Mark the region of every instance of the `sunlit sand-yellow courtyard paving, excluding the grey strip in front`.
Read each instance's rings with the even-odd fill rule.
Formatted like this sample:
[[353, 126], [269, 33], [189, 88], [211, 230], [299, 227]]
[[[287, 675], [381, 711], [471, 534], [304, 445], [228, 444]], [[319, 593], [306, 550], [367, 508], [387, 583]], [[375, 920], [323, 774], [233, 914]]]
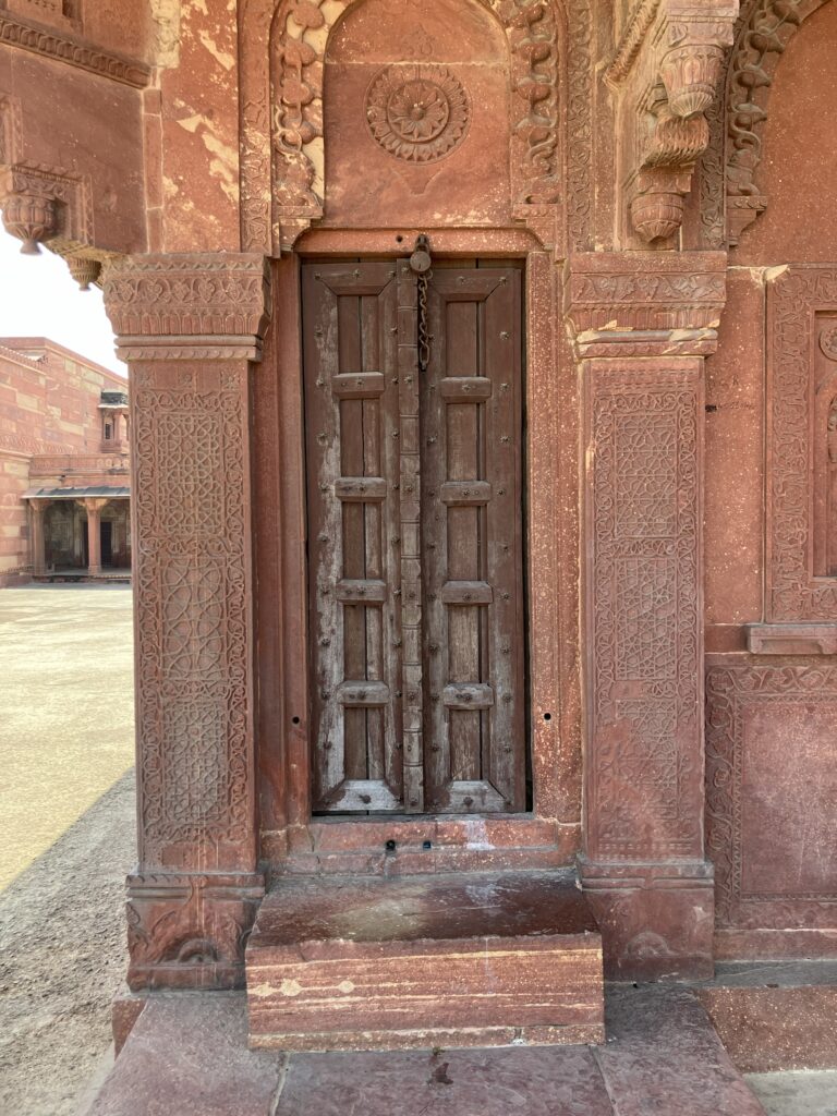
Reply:
[[127, 586], [0, 590], [0, 892], [134, 763]]

